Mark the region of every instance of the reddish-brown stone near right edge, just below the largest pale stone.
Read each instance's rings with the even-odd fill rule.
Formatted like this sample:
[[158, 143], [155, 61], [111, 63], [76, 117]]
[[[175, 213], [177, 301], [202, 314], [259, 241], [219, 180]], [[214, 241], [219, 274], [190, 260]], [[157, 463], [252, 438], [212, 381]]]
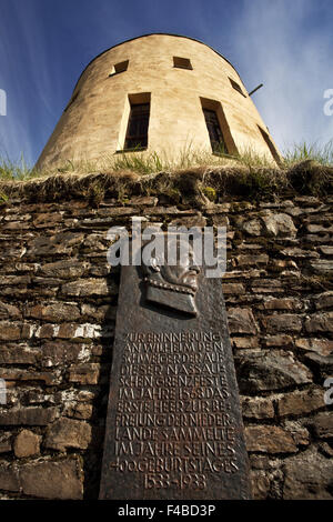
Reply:
[[320, 408], [324, 408], [324, 393], [322, 390], [304, 390], [285, 393], [278, 399], [278, 409], [281, 416], [304, 415]]

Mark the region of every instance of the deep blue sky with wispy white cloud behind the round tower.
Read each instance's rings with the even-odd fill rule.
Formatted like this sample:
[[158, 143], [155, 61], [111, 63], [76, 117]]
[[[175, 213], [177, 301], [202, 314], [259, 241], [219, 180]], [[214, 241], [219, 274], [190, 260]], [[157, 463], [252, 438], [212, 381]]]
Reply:
[[150, 32], [199, 39], [228, 58], [283, 150], [333, 138], [332, 0], [0, 0], [0, 155], [32, 164], [88, 62]]

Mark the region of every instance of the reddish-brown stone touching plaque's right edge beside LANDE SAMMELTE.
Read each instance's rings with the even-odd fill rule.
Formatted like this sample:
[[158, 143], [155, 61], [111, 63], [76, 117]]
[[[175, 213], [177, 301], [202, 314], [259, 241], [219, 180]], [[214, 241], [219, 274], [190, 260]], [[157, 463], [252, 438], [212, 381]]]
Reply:
[[245, 428], [248, 451], [262, 453], [294, 453], [297, 446], [290, 433], [280, 426], [249, 425]]

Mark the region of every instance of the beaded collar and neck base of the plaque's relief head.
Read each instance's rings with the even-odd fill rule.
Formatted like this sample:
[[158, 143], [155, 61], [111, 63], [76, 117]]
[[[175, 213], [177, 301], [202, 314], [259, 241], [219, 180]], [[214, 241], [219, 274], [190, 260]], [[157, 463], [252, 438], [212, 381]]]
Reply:
[[147, 300], [162, 304], [172, 310], [198, 315], [194, 295], [195, 290], [172, 283], [160, 282], [154, 279], [144, 279], [147, 288]]

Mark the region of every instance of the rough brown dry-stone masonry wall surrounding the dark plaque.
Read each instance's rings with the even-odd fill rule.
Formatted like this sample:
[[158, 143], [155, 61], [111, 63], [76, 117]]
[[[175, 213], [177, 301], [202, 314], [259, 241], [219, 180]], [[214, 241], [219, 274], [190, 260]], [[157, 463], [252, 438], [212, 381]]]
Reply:
[[332, 202], [3, 204], [0, 499], [98, 498], [120, 273], [107, 230], [132, 215], [228, 225], [223, 288], [253, 495], [332, 499]]

